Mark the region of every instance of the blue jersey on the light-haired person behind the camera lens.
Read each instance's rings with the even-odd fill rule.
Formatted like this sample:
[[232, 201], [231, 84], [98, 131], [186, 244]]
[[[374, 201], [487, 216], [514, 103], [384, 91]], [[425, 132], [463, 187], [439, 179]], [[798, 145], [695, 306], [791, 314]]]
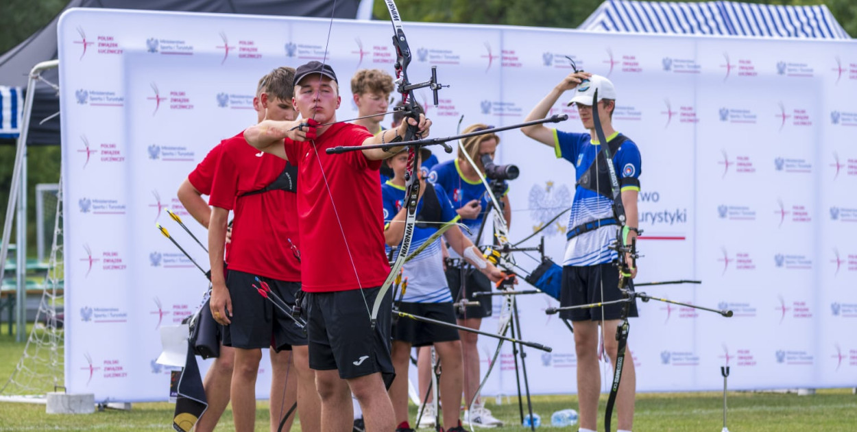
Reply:
[[[470, 234], [464, 231], [464, 235], [470, 238], [473, 244], [479, 244], [476, 241], [476, 235], [479, 233], [479, 225], [482, 225], [482, 218], [485, 217], [485, 212], [488, 211], [488, 202], [491, 201], [482, 182], [479, 180], [471, 182], [464, 178], [461, 175], [461, 167], [458, 166], [458, 158], [434, 165], [431, 171], [428, 172], [428, 181], [435, 186], [440, 186], [444, 190], [450, 191], [449, 201], [452, 201], [452, 207], [456, 210], [464, 207], [472, 200], [479, 201], [479, 204], [482, 205], [482, 212], [479, 213], [479, 216], [476, 219], [461, 219], [461, 223], [467, 225], [470, 229]], [[506, 196], [509, 193], [508, 183], [502, 182], [502, 185], [504, 190], [503, 196]], [[502, 196], [497, 197], [498, 200], [500, 198]], [[488, 225], [487, 229], [490, 229], [489, 227], [490, 225]], [[450, 256], [458, 256], [452, 250], [449, 251], [449, 254]]]

